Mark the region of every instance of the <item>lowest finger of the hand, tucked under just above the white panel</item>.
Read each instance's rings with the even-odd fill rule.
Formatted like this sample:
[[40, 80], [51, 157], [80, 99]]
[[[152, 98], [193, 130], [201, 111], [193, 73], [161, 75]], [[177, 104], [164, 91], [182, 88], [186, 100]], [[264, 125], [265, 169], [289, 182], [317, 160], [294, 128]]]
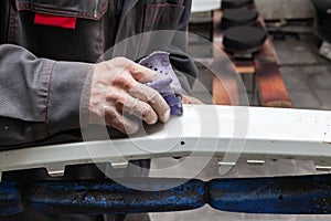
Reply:
[[114, 127], [124, 134], [135, 134], [139, 129], [138, 123], [128, 119], [113, 106], [105, 107], [105, 120], [108, 126]]

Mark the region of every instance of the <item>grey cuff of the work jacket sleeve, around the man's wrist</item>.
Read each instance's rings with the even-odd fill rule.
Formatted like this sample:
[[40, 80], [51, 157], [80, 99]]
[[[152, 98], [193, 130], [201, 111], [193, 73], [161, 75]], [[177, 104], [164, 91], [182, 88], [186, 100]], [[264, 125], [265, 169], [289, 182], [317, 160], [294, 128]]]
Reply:
[[[46, 128], [52, 136], [87, 124], [93, 64], [54, 62], [47, 82]], [[79, 119], [82, 115], [82, 119]]]

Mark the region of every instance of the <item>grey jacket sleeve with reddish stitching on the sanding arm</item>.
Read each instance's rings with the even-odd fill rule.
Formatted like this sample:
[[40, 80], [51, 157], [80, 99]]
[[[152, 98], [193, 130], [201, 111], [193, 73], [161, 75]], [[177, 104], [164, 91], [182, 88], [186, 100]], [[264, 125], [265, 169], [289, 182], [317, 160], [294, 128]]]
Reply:
[[[93, 65], [39, 59], [0, 45], [0, 148], [79, 128], [79, 103]], [[86, 107], [83, 107], [86, 108]]]

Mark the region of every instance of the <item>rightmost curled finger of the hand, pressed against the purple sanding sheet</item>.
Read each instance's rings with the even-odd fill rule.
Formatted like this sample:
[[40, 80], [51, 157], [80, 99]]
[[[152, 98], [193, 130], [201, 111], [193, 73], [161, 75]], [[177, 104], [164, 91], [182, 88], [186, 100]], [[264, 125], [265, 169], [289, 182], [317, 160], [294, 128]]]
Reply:
[[132, 97], [137, 97], [145, 103], [148, 103], [163, 123], [170, 118], [170, 107], [163, 97], [154, 90], [143, 85], [137, 84], [134, 88], [129, 90]]

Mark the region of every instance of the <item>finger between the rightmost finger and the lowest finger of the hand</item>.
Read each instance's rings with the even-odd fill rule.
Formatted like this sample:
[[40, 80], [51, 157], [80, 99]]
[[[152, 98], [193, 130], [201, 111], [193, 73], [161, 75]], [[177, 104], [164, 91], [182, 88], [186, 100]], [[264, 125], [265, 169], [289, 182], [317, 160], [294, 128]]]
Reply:
[[158, 122], [158, 115], [149, 104], [134, 98], [130, 95], [126, 98], [124, 110], [139, 117], [149, 125]]

